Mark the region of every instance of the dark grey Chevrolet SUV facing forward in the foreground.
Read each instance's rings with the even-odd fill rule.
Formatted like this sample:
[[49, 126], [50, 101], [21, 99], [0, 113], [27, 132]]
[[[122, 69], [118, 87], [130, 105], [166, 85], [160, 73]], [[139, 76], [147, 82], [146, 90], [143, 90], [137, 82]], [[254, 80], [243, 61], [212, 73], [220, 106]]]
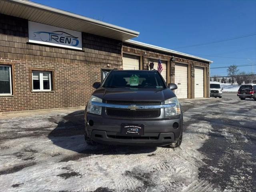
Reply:
[[182, 110], [156, 70], [112, 70], [96, 88], [85, 111], [88, 144], [178, 147]]

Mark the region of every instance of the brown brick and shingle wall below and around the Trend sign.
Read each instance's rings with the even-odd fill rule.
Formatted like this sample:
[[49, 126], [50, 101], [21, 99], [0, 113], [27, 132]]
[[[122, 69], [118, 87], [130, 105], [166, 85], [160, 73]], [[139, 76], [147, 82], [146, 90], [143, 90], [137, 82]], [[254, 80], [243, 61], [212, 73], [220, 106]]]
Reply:
[[[83, 50], [28, 43], [28, 21], [0, 14], [0, 64], [14, 64], [15, 94], [0, 112], [85, 106], [101, 68], [122, 68], [122, 42], [82, 34]], [[31, 92], [29, 68], [54, 70], [54, 92]]]

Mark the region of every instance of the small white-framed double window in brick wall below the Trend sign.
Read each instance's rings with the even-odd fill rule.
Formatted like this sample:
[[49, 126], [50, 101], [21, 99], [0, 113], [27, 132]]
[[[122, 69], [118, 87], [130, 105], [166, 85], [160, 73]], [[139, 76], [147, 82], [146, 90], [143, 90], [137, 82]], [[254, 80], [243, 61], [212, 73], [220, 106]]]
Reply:
[[32, 91], [51, 91], [52, 72], [32, 70]]

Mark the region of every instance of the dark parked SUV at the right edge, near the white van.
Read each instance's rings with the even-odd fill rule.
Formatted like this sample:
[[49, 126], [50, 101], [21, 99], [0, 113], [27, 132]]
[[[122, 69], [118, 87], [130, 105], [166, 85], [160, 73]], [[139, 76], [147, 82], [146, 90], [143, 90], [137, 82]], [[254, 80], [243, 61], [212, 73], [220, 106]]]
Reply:
[[241, 85], [238, 89], [237, 96], [241, 100], [245, 100], [246, 98], [254, 98], [254, 100], [256, 100], [256, 85]]

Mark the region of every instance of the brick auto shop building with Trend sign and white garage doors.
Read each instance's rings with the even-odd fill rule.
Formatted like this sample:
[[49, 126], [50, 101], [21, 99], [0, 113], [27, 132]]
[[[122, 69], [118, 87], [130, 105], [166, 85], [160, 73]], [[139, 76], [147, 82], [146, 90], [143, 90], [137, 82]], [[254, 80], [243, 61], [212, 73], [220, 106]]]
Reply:
[[210, 60], [130, 40], [138, 35], [33, 2], [0, 0], [0, 112], [85, 106], [92, 84], [110, 69], [148, 70], [159, 56], [178, 98], [209, 97]]

